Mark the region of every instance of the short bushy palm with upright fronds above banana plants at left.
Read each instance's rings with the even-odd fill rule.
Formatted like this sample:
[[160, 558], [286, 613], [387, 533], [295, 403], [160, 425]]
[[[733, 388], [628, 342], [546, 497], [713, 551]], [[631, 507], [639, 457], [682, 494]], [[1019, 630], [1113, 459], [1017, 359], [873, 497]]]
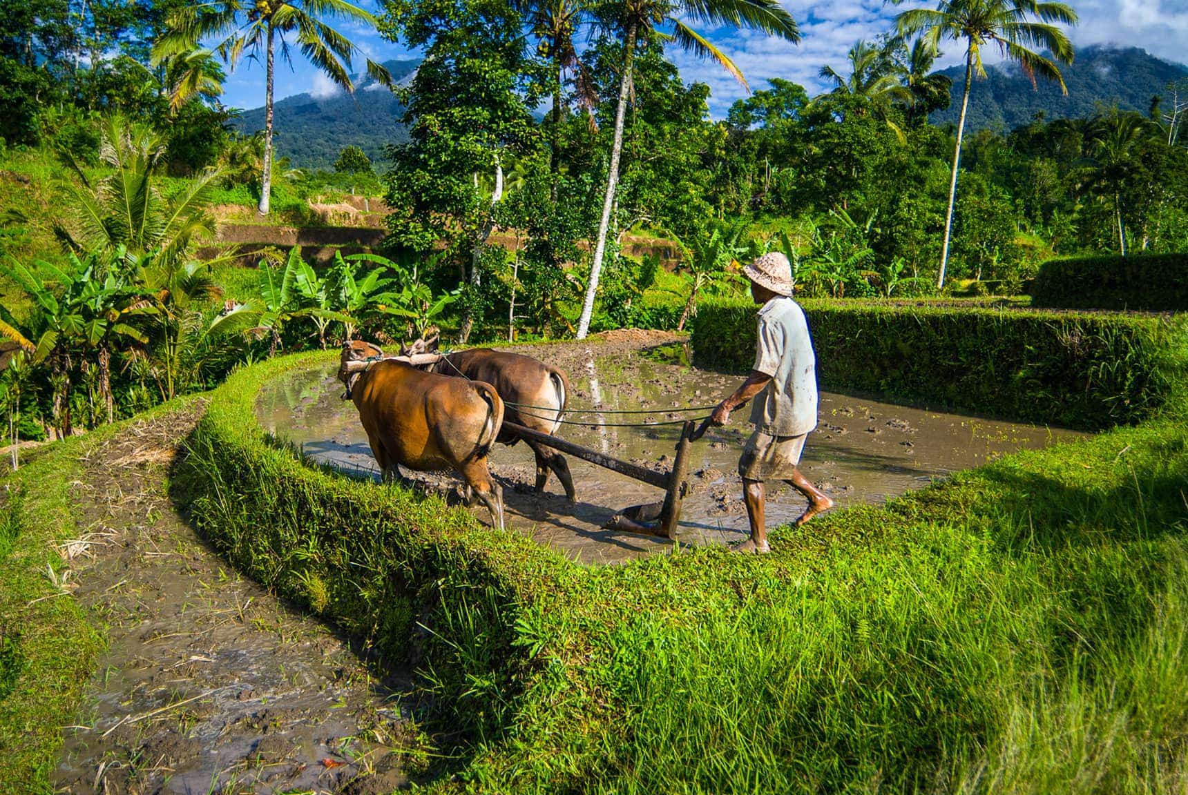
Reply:
[[112, 172], [91, 182], [69, 161], [78, 184], [67, 185], [74, 218], [57, 227], [67, 244], [97, 254], [108, 267], [122, 267], [120, 259], [131, 265], [150, 252], [158, 263], [172, 265], [197, 240], [213, 237], [215, 222], [207, 209], [221, 172], [208, 168], [166, 198], [156, 178], [164, 157], [164, 139], [147, 125], [105, 119], [100, 159]]

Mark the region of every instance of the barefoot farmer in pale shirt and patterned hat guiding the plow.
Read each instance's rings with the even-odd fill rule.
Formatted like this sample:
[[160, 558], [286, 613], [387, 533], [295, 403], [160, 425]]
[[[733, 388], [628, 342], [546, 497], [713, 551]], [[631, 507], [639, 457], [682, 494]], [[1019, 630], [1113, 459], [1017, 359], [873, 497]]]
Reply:
[[764, 483], [784, 481], [809, 501], [796, 520], [801, 526], [833, 508], [833, 501], [809, 483], [797, 464], [804, 438], [817, 424], [816, 357], [804, 311], [792, 300], [792, 268], [778, 252], [764, 254], [742, 272], [751, 280], [751, 297], [759, 310], [759, 336], [751, 375], [710, 415], [725, 425], [731, 412], [754, 398], [751, 421], [754, 433], [739, 459], [742, 497], [751, 520], [751, 538], [737, 552], [765, 553]]

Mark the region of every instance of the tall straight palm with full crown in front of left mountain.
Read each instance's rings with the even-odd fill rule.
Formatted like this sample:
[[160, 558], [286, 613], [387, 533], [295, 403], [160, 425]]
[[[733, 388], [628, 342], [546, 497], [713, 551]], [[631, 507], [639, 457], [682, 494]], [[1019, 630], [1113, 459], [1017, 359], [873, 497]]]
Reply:
[[[292, 62], [286, 40], [291, 36], [310, 63], [347, 91], [354, 91], [349, 69], [359, 47], [322, 21], [321, 17], [375, 25], [371, 13], [347, 0], [216, 0], [175, 11], [170, 14], [168, 32], [153, 46], [153, 62], [162, 63], [191, 52], [204, 39], [217, 38], [221, 40], [211, 51], [233, 70], [245, 52], [249, 53], [249, 58], [259, 59], [260, 49], [264, 49], [264, 173], [257, 209], [261, 216], [268, 214], [272, 187], [272, 88], [277, 39], [280, 57], [286, 63]], [[371, 58], [366, 62], [372, 80], [384, 85], [392, 84], [392, 76], [384, 66]], [[192, 81], [181, 83], [183, 93], [191, 87]]]

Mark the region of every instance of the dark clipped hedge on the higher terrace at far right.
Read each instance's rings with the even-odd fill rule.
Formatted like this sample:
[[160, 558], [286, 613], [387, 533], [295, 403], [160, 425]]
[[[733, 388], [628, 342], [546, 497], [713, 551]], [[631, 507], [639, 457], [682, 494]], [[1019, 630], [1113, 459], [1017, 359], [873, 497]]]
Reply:
[[1031, 286], [1035, 306], [1188, 311], [1188, 253], [1049, 260]]

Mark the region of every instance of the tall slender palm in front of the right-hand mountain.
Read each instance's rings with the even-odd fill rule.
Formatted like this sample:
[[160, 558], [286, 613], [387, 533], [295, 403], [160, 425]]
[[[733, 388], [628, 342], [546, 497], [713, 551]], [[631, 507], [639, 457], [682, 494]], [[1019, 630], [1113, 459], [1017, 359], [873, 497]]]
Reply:
[[[902, 1], [902, 0], [899, 0]], [[1040, 21], [1032, 21], [1037, 19]], [[1023, 68], [1035, 84], [1036, 75], [1060, 83], [1068, 94], [1064, 78], [1055, 62], [1036, 50], [1048, 50], [1056, 61], [1073, 63], [1073, 45], [1054, 23], [1072, 25], [1076, 12], [1063, 2], [1038, 0], [940, 0], [936, 8], [912, 8], [896, 18], [901, 38], [922, 34], [927, 46], [936, 52], [944, 39], [963, 42], [966, 46], [965, 89], [961, 95], [961, 115], [958, 119], [958, 140], [953, 150], [953, 174], [949, 179], [949, 208], [944, 216], [944, 244], [941, 247], [941, 268], [936, 288], [944, 286], [944, 268], [949, 260], [949, 238], [953, 231], [953, 205], [958, 193], [958, 166], [961, 160], [961, 139], [965, 134], [966, 110], [973, 77], [986, 76], [981, 49], [998, 45], [1009, 61]]]

